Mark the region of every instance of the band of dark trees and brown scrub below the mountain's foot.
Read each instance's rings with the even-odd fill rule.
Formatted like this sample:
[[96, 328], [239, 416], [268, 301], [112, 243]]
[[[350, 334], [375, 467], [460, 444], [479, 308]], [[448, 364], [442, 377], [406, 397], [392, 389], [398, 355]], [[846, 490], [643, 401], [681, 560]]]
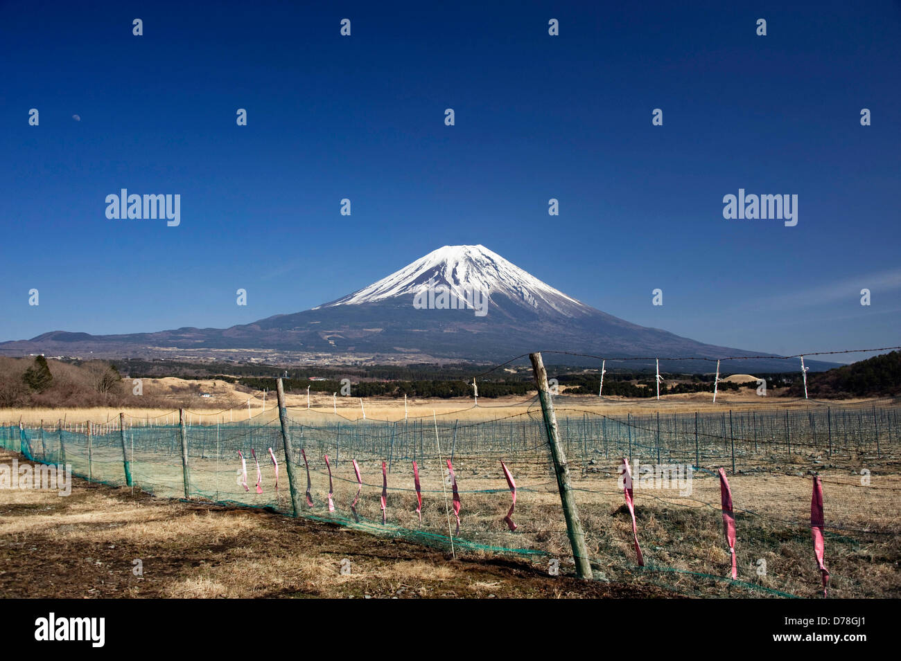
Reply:
[[[350, 365], [333, 367], [291, 367], [231, 362], [177, 362], [117, 360], [58, 361], [32, 358], [0, 358], [0, 407], [18, 406], [134, 406], [132, 379], [177, 377], [186, 380], [222, 380], [241, 390], [276, 389], [284, 378], [288, 392], [341, 392], [341, 380], [350, 379], [353, 397], [472, 397], [476, 377], [478, 396], [525, 397], [536, 391], [532, 370], [524, 365], [492, 369], [491, 365], [432, 363], [412, 365]], [[548, 374], [563, 392], [597, 395], [600, 374], [596, 367], [548, 365]], [[287, 377], [285, 376], [287, 372]], [[713, 374], [663, 373], [668, 382], [660, 385], [660, 395], [713, 392]], [[800, 371], [760, 374], [767, 380], [768, 395], [803, 397]], [[315, 378], [315, 380], [313, 380]], [[757, 386], [756, 381], [720, 381], [719, 390]], [[896, 397], [901, 395], [901, 352], [892, 352], [866, 361], [807, 375], [810, 397]], [[652, 371], [610, 370], [604, 377], [604, 395], [610, 397], [655, 397]], [[173, 397], [174, 395], [174, 397]], [[198, 383], [170, 386], [163, 394], [149, 386], [141, 397], [142, 406], [193, 406], [201, 397]]]

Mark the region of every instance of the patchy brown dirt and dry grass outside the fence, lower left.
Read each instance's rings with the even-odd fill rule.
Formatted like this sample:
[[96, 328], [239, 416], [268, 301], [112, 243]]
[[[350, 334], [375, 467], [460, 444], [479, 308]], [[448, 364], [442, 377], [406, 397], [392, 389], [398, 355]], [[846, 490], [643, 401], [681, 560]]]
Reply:
[[[6, 452], [0, 462], [9, 465]], [[20, 465], [23, 461], [20, 458]], [[136, 560], [142, 576], [136, 576]], [[349, 574], [341, 573], [341, 566]], [[164, 500], [73, 479], [70, 496], [0, 489], [2, 597], [668, 597], [655, 585], [449, 558], [327, 523]]]

